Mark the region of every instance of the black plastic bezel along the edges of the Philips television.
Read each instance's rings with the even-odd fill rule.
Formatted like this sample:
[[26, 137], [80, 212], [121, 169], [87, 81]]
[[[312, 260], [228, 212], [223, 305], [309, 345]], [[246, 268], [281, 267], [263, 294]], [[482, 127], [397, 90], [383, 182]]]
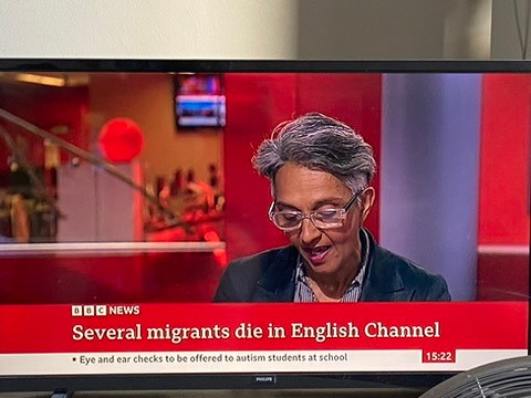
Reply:
[[[127, 72], [127, 73], [531, 73], [531, 61], [447, 60], [157, 60], [157, 59], [0, 59], [0, 72]], [[528, 282], [531, 293], [531, 272]], [[531, 294], [528, 294], [528, 305]], [[528, 355], [531, 355], [528, 316]], [[415, 373], [281, 373], [274, 383], [259, 374], [135, 374], [0, 376], [0, 392], [45, 390], [170, 389], [427, 389], [458, 371]], [[260, 374], [262, 375], [262, 374]], [[268, 373], [268, 375], [273, 375]], [[263, 376], [263, 375], [262, 375]]]

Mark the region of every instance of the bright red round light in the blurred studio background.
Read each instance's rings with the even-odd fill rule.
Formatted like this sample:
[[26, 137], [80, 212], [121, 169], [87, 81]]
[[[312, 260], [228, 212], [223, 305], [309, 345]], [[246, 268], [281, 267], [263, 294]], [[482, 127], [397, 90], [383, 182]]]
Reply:
[[144, 135], [135, 122], [118, 117], [102, 127], [98, 142], [107, 160], [128, 163], [140, 155]]

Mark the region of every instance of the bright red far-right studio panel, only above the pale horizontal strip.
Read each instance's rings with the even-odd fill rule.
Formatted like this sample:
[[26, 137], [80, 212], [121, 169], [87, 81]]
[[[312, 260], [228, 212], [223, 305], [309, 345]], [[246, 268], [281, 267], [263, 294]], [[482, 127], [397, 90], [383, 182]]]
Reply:
[[531, 76], [486, 74], [479, 244], [529, 244]]

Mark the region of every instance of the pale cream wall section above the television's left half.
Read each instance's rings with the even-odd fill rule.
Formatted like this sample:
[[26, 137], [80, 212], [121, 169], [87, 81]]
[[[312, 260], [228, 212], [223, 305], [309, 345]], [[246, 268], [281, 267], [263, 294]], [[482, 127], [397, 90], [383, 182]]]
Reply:
[[294, 0], [1, 0], [0, 56], [289, 59]]

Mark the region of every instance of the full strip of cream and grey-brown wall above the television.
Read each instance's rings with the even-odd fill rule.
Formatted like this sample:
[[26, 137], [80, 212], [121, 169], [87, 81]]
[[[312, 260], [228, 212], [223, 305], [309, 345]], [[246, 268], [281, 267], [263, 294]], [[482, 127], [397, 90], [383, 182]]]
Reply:
[[512, 8], [507, 0], [2, 0], [0, 56], [519, 59]]

